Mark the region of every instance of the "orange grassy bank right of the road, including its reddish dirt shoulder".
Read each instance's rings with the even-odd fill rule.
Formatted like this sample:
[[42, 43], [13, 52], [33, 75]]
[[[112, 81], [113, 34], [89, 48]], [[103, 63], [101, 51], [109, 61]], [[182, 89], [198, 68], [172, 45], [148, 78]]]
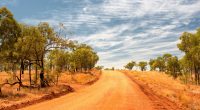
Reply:
[[200, 109], [200, 87], [197, 85], [183, 84], [182, 81], [174, 80], [170, 75], [159, 71], [122, 70], [122, 72], [142, 88], [155, 108], [162, 105], [169, 110]]

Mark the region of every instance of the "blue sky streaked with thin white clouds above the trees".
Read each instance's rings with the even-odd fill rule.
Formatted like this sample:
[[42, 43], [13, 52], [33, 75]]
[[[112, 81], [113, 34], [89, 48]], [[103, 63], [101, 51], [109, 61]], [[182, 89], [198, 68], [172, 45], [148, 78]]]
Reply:
[[63, 23], [68, 37], [91, 45], [99, 65], [122, 68], [176, 47], [184, 31], [200, 27], [200, 0], [0, 0], [15, 18], [36, 25]]

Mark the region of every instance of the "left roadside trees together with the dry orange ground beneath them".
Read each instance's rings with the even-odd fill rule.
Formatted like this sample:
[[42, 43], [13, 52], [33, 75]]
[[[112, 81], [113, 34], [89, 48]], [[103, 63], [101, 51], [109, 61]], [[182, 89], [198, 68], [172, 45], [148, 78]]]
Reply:
[[0, 99], [5, 99], [1, 105], [9, 98], [31, 97], [30, 93], [71, 92], [68, 84], [98, 79], [97, 53], [87, 44], [69, 40], [68, 34], [62, 23], [56, 28], [47, 22], [19, 23], [6, 7], [0, 8]]

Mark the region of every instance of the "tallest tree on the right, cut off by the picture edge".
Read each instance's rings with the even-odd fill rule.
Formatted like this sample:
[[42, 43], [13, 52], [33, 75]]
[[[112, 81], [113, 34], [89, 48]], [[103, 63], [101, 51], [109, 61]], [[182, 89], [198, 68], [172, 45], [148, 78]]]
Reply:
[[191, 71], [194, 72], [196, 84], [200, 83], [200, 29], [196, 33], [184, 32], [180, 37], [178, 48], [185, 52], [185, 59], [191, 62]]

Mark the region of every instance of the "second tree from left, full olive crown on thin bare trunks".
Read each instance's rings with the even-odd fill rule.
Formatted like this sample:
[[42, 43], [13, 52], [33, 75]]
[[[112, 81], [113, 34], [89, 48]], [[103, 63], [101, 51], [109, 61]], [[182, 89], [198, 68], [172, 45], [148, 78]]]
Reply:
[[[24, 74], [25, 65], [29, 66], [29, 80], [30, 86], [32, 84], [31, 78], [31, 65], [34, 58], [34, 47], [35, 45], [41, 45], [40, 32], [37, 27], [28, 26], [21, 24], [21, 36], [17, 39], [15, 43], [15, 54], [18, 61], [20, 62], [20, 80], [21, 74]], [[40, 42], [38, 42], [38, 40]]]

